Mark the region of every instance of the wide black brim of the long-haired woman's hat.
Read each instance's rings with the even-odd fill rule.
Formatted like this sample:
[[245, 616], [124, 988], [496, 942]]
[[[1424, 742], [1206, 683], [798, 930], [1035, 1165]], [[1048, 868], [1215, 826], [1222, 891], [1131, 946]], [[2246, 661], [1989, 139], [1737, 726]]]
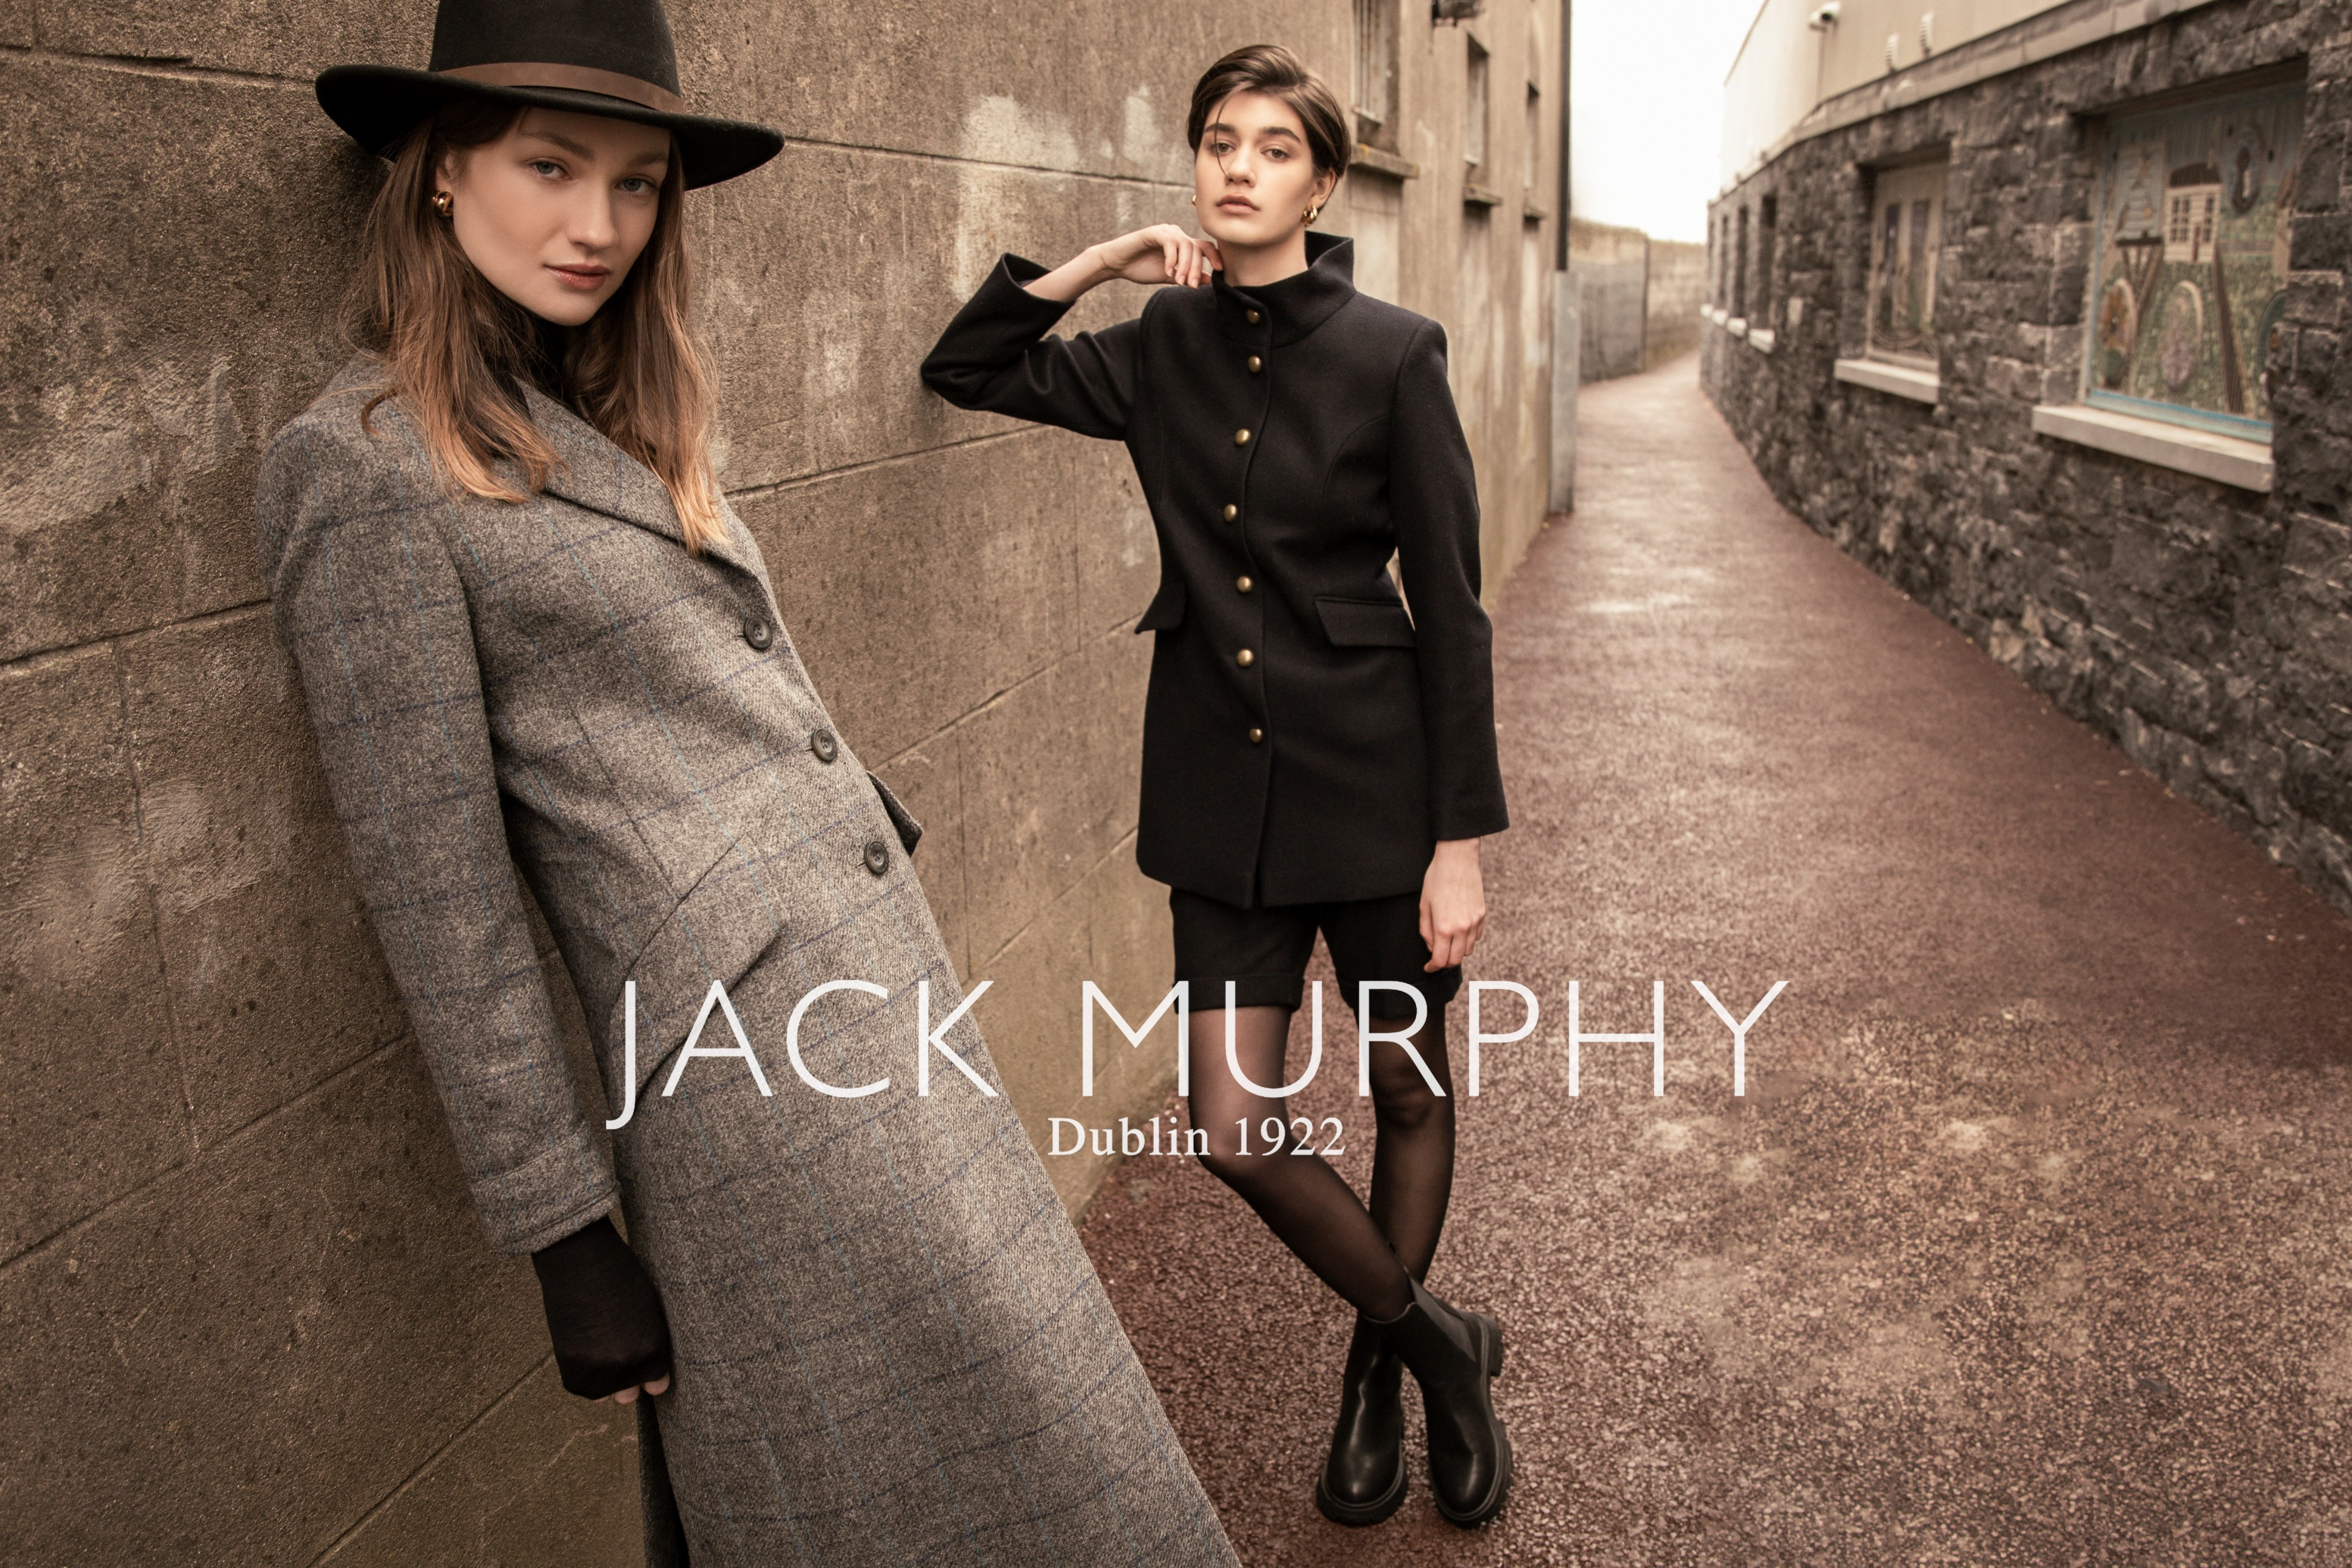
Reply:
[[659, 125], [677, 136], [677, 155], [689, 190], [715, 186], [736, 174], [750, 174], [783, 150], [783, 134], [767, 125], [713, 120], [710, 115], [675, 115], [630, 103], [628, 99], [612, 99], [602, 92], [576, 92], [572, 87], [492, 87], [437, 71], [334, 66], [320, 73], [315, 92], [318, 106], [327, 110], [327, 118], [379, 158], [390, 158], [400, 139], [416, 129], [416, 122], [428, 113], [456, 101], [562, 108], [576, 115], [607, 115], [612, 120]]

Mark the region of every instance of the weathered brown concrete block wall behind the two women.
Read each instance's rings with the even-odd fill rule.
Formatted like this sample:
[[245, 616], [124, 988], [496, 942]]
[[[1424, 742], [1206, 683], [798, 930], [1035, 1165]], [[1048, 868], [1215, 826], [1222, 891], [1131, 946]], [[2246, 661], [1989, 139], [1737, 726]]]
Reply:
[[[1148, 1009], [1134, 870], [1155, 548], [1120, 449], [969, 416], [915, 364], [1000, 249], [1188, 216], [1185, 94], [1275, 38], [1345, 87], [1352, 7], [673, 0], [687, 92], [793, 139], [701, 193], [720, 473], [826, 701], [929, 825], [917, 870], [1035, 1133], [1077, 987]], [[635, 1446], [553, 1380], [358, 905], [254, 569], [261, 444], [341, 362], [379, 165], [339, 61], [433, 9], [0, 5], [0, 1519], [12, 1563], [623, 1563]], [[1446, 322], [1486, 585], [1541, 527], [1545, 219], [1463, 202], [1463, 73], [1559, 103], [1557, 0], [1399, 0], [1409, 179], [1357, 174], [1378, 287]], [[1545, 40], [1552, 40], [1545, 45]], [[1482, 176], [1534, 190], [1496, 92]], [[1134, 313], [1110, 287], [1075, 324]], [[550, 961], [557, 997], [567, 997]], [[586, 1025], [574, 1016], [574, 1046]], [[1148, 1114], [1120, 1051], [1091, 1119]], [[593, 1093], [593, 1074], [583, 1079]], [[1075, 1208], [1103, 1168], [1049, 1161]]]

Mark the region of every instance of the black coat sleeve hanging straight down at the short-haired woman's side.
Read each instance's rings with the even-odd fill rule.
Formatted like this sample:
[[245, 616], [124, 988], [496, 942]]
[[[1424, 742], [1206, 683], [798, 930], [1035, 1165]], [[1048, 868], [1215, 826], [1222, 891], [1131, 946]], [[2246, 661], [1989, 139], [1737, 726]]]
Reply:
[[1477, 475], [1446, 386], [1446, 334], [1425, 322], [1397, 369], [1388, 508], [1414, 609], [1421, 724], [1430, 745], [1430, 832], [1503, 832], [1503, 766], [1494, 745], [1494, 625], [1477, 602]]

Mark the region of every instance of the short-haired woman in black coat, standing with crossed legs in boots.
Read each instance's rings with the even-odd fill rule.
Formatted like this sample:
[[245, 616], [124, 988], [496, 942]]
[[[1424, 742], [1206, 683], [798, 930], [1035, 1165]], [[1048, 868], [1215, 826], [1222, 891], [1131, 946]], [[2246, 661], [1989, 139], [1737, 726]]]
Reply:
[[[1357, 294], [1348, 240], [1308, 233], [1352, 153], [1331, 89], [1289, 49], [1235, 49], [1185, 132], [1204, 240], [1162, 223], [1054, 270], [1004, 256], [924, 381], [1134, 456], [1160, 536], [1136, 860], [1169, 884], [1192, 1124], [1209, 1168], [1357, 1307], [1317, 1505], [1341, 1523], [1397, 1509], [1411, 1368], [1437, 1507], [1475, 1526], [1510, 1488], [1503, 1331], [1421, 1284], [1454, 1178], [1444, 1006], [1484, 929], [1477, 842], [1508, 820], [1470, 449], [1444, 329]], [[1178, 287], [1047, 336], [1112, 277]], [[1369, 1208], [1263, 1135], [1317, 931], [1348, 1006], [1390, 1025]]]

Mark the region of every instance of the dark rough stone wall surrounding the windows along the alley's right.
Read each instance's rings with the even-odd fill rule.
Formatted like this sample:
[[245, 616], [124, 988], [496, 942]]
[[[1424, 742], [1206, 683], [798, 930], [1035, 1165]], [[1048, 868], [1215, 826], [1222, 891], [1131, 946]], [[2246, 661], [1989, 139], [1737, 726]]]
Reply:
[[[2100, 115], [2281, 63], [2307, 96], [2272, 491], [2034, 435], [2032, 407], [2082, 388]], [[1776, 197], [1771, 273], [1748, 277], [1771, 348], [1708, 327], [1703, 378], [1792, 512], [2352, 912], [2347, 73], [2345, 0], [2223, 0], [1799, 141], [1715, 205], [1724, 235]], [[1931, 407], [1835, 360], [1865, 336], [1867, 169], [1938, 146]]]

